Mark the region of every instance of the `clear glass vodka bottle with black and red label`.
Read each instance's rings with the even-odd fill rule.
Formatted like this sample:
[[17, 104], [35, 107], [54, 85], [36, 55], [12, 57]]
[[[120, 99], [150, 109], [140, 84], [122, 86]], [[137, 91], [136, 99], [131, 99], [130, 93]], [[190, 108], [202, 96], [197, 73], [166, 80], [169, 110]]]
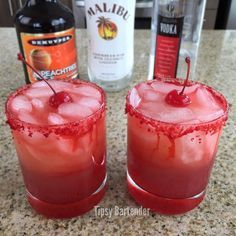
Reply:
[[206, 0], [155, 0], [148, 79], [183, 77], [190, 57], [193, 79]]

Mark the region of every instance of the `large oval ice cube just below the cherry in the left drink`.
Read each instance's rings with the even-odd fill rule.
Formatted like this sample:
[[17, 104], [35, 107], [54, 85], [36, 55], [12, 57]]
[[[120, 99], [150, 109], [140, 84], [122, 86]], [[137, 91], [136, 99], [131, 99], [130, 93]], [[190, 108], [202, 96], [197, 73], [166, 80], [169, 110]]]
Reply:
[[93, 111], [86, 106], [76, 103], [64, 103], [58, 107], [58, 113], [66, 118], [73, 120], [85, 118], [90, 116]]

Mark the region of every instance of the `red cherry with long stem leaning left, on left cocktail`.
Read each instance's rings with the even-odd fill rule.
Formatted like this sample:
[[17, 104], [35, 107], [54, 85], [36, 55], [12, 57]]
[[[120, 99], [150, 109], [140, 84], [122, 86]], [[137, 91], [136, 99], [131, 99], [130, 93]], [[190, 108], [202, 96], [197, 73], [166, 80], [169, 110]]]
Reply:
[[63, 103], [73, 102], [71, 96], [67, 92], [61, 91], [57, 93], [51, 84], [49, 84], [48, 81], [44, 79], [43, 76], [25, 60], [21, 53], [18, 53], [17, 57], [19, 61], [22, 61], [30, 67], [30, 69], [32, 69], [50, 87], [53, 92], [53, 95], [49, 98], [49, 105], [51, 107], [58, 108]]

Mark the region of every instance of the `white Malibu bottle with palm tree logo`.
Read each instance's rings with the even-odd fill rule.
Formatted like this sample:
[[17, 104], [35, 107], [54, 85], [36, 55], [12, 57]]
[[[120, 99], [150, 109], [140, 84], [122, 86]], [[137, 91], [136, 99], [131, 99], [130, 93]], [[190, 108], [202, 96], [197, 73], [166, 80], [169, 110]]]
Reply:
[[88, 74], [106, 91], [127, 87], [134, 63], [135, 0], [85, 0]]

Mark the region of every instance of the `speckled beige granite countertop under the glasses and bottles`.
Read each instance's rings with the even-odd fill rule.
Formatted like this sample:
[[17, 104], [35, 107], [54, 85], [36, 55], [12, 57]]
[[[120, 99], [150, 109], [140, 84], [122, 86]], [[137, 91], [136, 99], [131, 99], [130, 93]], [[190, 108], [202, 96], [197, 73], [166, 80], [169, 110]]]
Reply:
[[[80, 75], [87, 79], [86, 32], [79, 30]], [[146, 80], [150, 31], [135, 32], [134, 83]], [[207, 196], [196, 209], [180, 216], [122, 216], [115, 208], [138, 209], [126, 187], [125, 95], [128, 89], [107, 95], [109, 189], [101, 208], [113, 209], [111, 216], [95, 210], [82, 217], [49, 220], [37, 215], [25, 198], [24, 184], [5, 124], [4, 103], [10, 91], [24, 84], [21, 63], [16, 58], [18, 44], [13, 28], [0, 28], [0, 235], [236, 235], [236, 31], [203, 31], [195, 79], [222, 92], [231, 104]], [[132, 85], [133, 85], [132, 84]], [[234, 112], [234, 113], [233, 113]]]

